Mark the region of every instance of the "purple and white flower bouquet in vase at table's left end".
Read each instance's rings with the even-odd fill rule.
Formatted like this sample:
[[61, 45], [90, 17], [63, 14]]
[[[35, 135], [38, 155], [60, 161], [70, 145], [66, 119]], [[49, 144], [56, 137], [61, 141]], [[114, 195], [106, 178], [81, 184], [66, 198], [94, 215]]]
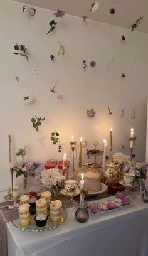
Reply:
[[41, 169], [43, 169], [43, 165], [38, 162], [22, 161], [14, 163], [13, 168], [16, 172], [16, 177], [23, 175], [24, 177], [32, 176], [35, 178]]

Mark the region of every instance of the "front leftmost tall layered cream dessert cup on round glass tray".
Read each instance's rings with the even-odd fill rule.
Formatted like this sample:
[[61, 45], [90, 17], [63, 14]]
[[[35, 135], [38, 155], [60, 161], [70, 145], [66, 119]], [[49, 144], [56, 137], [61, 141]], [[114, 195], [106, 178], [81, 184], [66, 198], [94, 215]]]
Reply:
[[21, 226], [29, 226], [31, 222], [30, 213], [29, 213], [30, 205], [28, 203], [24, 203], [19, 206], [19, 220]]

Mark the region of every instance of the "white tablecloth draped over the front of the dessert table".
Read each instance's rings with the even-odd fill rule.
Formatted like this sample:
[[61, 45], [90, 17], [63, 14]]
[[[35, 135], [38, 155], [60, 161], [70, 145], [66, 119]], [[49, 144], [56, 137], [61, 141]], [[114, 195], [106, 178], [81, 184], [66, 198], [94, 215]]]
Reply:
[[75, 218], [55, 230], [24, 232], [7, 224], [8, 256], [147, 256], [148, 205], [137, 197], [133, 205], [101, 215], [87, 223]]

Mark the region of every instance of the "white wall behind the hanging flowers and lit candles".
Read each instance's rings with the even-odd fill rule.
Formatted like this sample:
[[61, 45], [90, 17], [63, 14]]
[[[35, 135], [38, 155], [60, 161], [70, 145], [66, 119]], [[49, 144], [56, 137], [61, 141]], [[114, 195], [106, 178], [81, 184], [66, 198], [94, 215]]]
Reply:
[[[83, 136], [88, 141], [88, 149], [93, 148], [96, 140], [103, 149], [103, 139], [109, 140], [110, 127], [114, 128], [114, 152], [120, 151], [119, 145], [124, 144], [127, 154], [130, 127], [134, 127], [137, 136], [135, 154], [138, 160], [144, 161], [148, 36], [90, 20], [83, 23], [81, 18], [70, 15], [58, 19], [55, 32], [47, 36], [53, 11], [36, 8], [36, 15], [29, 17], [22, 7], [23, 4], [8, 0], [0, 3], [0, 190], [11, 183], [9, 133], [13, 137], [13, 161], [16, 160], [16, 150], [27, 146], [26, 159], [45, 163], [47, 159], [61, 159], [63, 152], [69, 154], [72, 134], [77, 141]], [[121, 35], [126, 37], [125, 44], [120, 42]], [[59, 41], [65, 45], [64, 56], [57, 55]], [[13, 54], [16, 42], [28, 48], [29, 63]], [[50, 60], [51, 54], [55, 56], [54, 62]], [[108, 63], [110, 58], [114, 58], [113, 63]], [[83, 60], [87, 60], [86, 72], [82, 68]], [[97, 62], [95, 68], [89, 66], [92, 60]], [[136, 60], [139, 65], [134, 67]], [[34, 67], [38, 68], [38, 75], [34, 75]], [[125, 79], [120, 78], [122, 72], [127, 75]], [[60, 81], [53, 94], [50, 88], [57, 79]], [[56, 99], [58, 93], [63, 95], [63, 100]], [[24, 104], [22, 99], [26, 95], [34, 95], [36, 102]], [[108, 115], [108, 99], [113, 115]], [[88, 119], [83, 109], [92, 107], [97, 114]], [[137, 115], [136, 119], [131, 119], [134, 107]], [[120, 119], [123, 108], [125, 117]], [[38, 133], [30, 121], [34, 115], [46, 118]], [[50, 141], [55, 129], [60, 132], [63, 142], [61, 154]], [[85, 161], [88, 160], [84, 149]]]

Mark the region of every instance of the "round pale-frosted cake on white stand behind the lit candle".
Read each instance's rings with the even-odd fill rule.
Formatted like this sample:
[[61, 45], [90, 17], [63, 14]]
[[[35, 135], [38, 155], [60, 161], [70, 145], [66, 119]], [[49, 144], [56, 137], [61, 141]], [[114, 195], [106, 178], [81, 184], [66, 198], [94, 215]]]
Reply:
[[101, 174], [97, 171], [81, 171], [75, 172], [73, 179], [80, 181], [82, 178], [82, 173], [84, 174], [84, 189], [87, 189], [89, 192], [97, 192], [102, 190], [101, 185]]

